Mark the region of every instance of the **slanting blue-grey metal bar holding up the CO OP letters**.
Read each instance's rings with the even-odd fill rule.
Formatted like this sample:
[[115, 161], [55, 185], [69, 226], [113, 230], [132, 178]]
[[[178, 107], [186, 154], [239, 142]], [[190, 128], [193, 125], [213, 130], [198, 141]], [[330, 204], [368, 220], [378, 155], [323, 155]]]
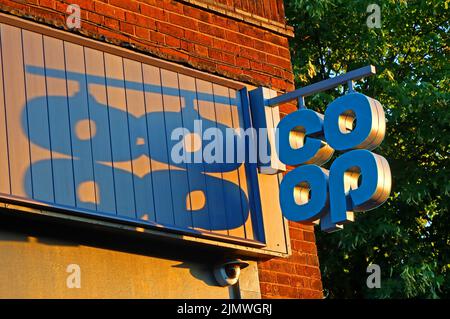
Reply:
[[343, 75], [336, 76], [331, 79], [327, 79], [324, 81], [320, 81], [318, 83], [314, 83], [298, 90], [274, 97], [272, 99], [266, 100], [265, 104], [267, 106], [273, 106], [277, 104], [282, 104], [286, 102], [290, 102], [293, 100], [297, 100], [300, 97], [307, 97], [313, 95], [315, 93], [323, 92], [332, 88], [337, 87], [340, 84], [347, 83], [349, 81], [357, 81], [364, 77], [371, 76], [376, 74], [376, 69], [373, 65], [368, 65], [350, 72], [347, 72]]

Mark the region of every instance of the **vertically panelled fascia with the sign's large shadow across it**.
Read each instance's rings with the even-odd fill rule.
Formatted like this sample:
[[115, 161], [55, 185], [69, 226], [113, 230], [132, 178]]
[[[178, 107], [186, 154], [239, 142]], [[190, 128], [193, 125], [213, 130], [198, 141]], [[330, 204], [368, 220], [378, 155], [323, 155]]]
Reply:
[[239, 92], [6, 24], [1, 43], [3, 194], [258, 240], [242, 165], [170, 156], [194, 120], [241, 127]]

